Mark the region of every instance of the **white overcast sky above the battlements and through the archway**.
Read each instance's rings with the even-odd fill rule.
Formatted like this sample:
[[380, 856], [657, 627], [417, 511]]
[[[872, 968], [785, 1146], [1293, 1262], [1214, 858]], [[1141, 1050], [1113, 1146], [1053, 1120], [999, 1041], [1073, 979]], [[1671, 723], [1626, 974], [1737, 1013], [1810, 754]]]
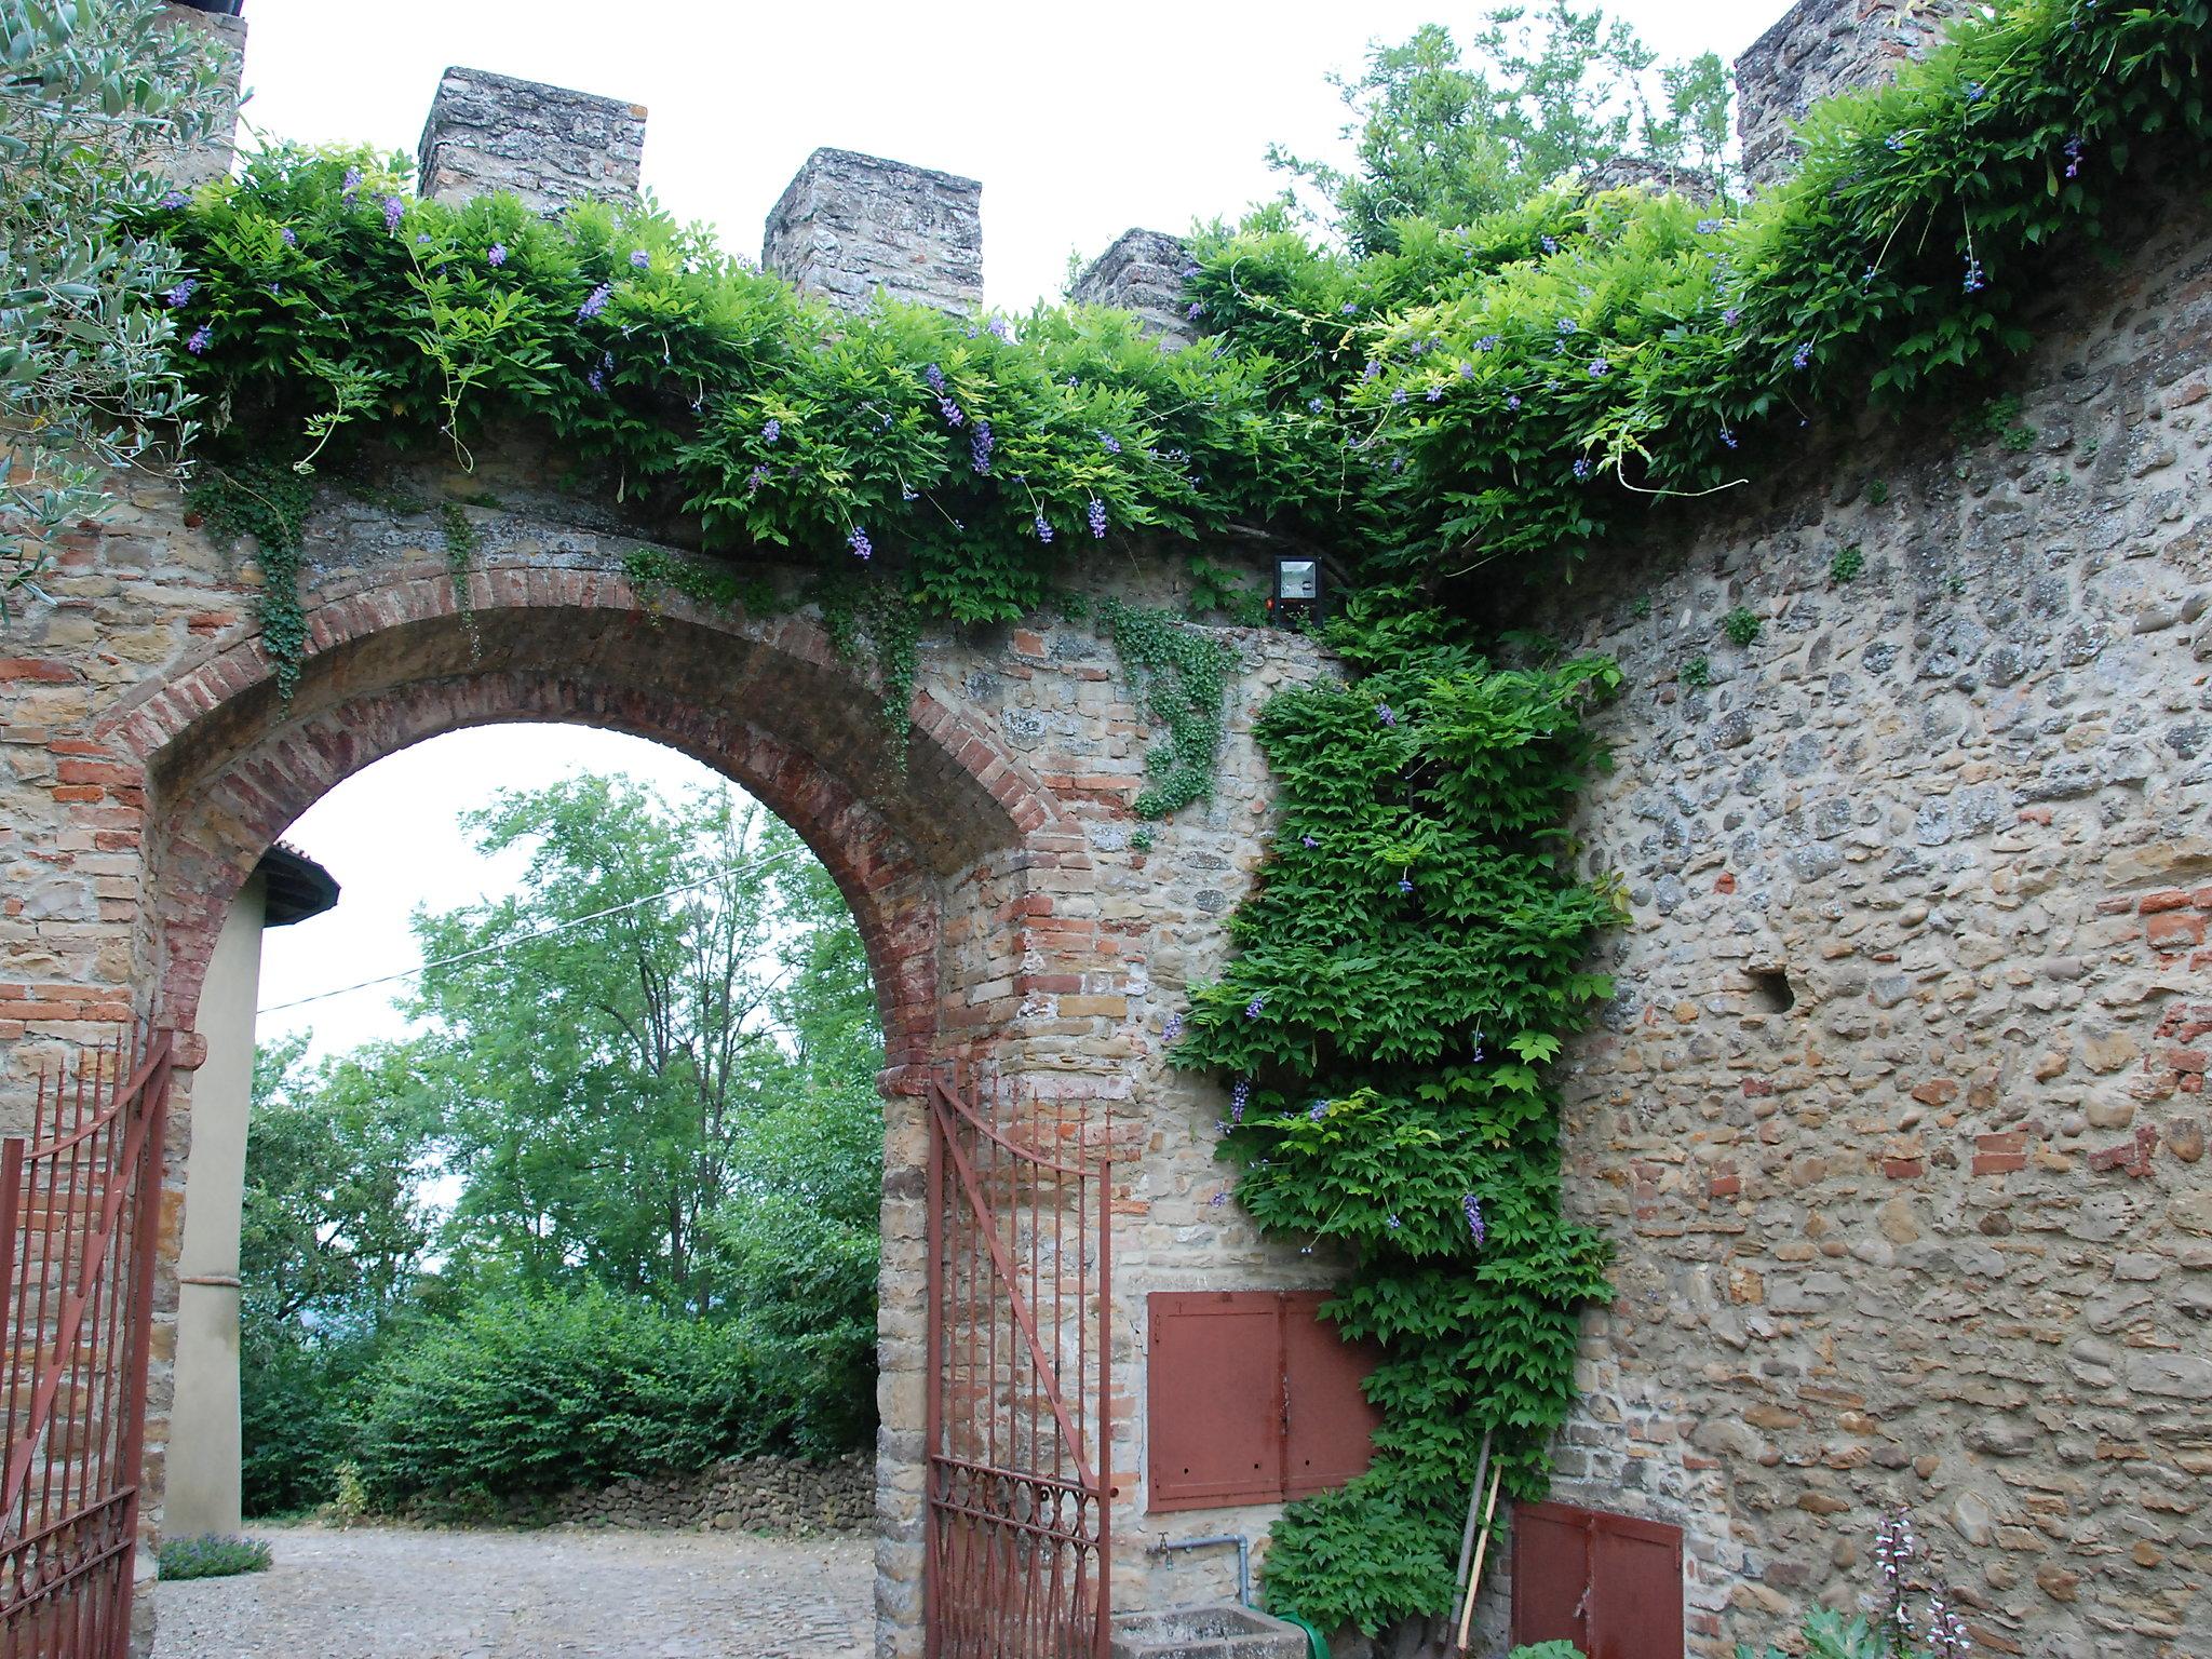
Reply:
[[[1615, 0], [1666, 58], [1732, 60], [1785, 0]], [[1068, 252], [1130, 226], [1183, 230], [1272, 195], [1270, 139], [1336, 155], [1325, 82], [1371, 40], [1425, 22], [1464, 33], [1482, 0], [248, 0], [248, 119], [310, 144], [414, 150], [447, 64], [628, 97], [653, 111], [646, 186], [750, 257], [761, 221], [816, 146], [982, 179], [984, 292], [1026, 310], [1057, 294]], [[675, 792], [686, 757], [566, 726], [498, 726], [383, 761], [312, 807], [288, 841], [343, 885], [338, 907], [276, 929], [263, 1006], [416, 967], [420, 905], [511, 889], [522, 854], [480, 860], [456, 816], [500, 787], [624, 770]], [[261, 1037], [312, 1029], [316, 1051], [400, 1035], [389, 989], [272, 1013]]]

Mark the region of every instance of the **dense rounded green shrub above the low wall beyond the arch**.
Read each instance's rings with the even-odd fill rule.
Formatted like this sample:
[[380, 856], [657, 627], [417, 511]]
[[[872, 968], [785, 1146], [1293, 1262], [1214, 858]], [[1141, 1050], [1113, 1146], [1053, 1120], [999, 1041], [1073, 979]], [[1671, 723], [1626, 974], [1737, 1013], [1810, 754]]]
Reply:
[[[754, 1340], [604, 1290], [487, 1301], [392, 1356], [361, 1407], [369, 1498], [482, 1502], [790, 1447]], [[783, 1356], [785, 1363], [790, 1356]]]

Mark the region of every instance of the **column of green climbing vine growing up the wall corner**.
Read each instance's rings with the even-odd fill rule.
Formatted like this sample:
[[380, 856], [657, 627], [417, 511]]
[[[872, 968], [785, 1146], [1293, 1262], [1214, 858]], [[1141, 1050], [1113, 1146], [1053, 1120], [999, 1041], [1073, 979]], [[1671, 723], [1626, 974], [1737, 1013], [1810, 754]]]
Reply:
[[1542, 1495], [1575, 1310], [1610, 1294], [1604, 1243], [1559, 1214], [1548, 1062], [1613, 993], [1582, 962], [1621, 898], [1562, 825], [1601, 759], [1584, 710], [1617, 686], [1431, 646], [1259, 719], [1274, 847], [1172, 1057], [1237, 1079], [1237, 1199], [1352, 1261], [1327, 1312], [1385, 1349], [1374, 1467], [1292, 1504], [1267, 1553], [1270, 1601], [1323, 1628], [1449, 1601], [1484, 1427]]

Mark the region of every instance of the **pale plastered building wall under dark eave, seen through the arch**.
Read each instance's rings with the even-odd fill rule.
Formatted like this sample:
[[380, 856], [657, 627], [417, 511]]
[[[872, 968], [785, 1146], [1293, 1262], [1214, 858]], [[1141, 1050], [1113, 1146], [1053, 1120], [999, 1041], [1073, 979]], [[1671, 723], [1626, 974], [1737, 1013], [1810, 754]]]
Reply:
[[239, 1214], [246, 1199], [246, 1119], [254, 1093], [254, 1002], [268, 883], [257, 874], [223, 916], [199, 1035], [208, 1060], [192, 1077], [184, 1245], [177, 1252], [177, 1394], [168, 1420], [168, 1537], [237, 1533], [239, 1504]]

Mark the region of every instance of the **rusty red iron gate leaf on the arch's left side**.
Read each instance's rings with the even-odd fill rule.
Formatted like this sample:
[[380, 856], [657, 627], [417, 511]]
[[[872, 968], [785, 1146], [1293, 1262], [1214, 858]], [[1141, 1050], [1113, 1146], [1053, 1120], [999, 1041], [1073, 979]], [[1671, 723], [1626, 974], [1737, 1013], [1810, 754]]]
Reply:
[[146, 1444], [170, 1033], [117, 1029], [0, 1146], [0, 1655], [122, 1659]]

